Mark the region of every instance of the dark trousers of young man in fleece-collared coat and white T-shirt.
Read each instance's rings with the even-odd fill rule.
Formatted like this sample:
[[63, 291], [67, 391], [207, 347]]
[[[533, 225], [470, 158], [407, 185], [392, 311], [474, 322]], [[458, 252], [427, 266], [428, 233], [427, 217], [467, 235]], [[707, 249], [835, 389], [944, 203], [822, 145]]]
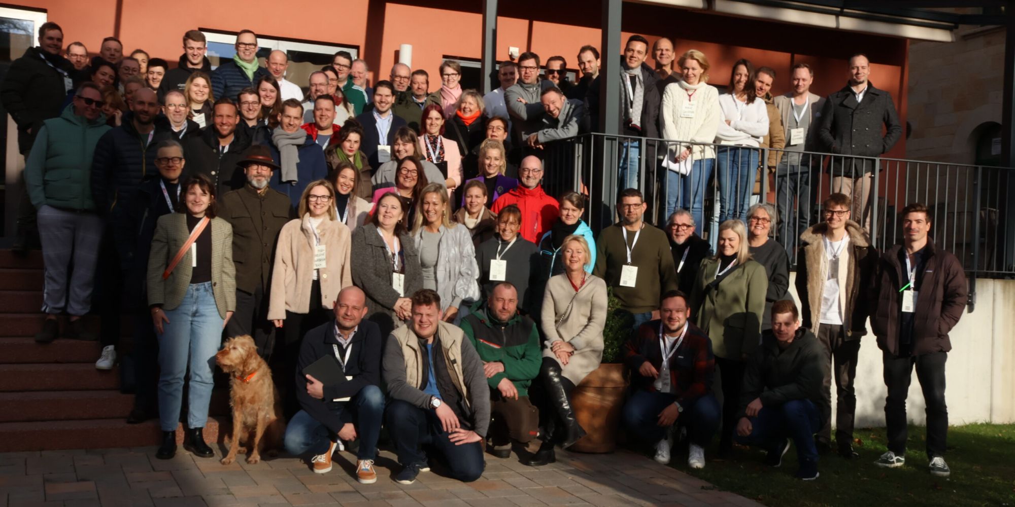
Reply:
[[[835, 376], [835, 441], [853, 440], [853, 423], [857, 414], [857, 391], [853, 381], [857, 377], [857, 356], [860, 354], [860, 340], [847, 340], [841, 325], [822, 323], [818, 325], [818, 342], [824, 347], [825, 364], [831, 364], [822, 383], [822, 388], [831, 396], [831, 378]], [[831, 406], [822, 409], [824, 426], [818, 431], [818, 440], [831, 441]]]

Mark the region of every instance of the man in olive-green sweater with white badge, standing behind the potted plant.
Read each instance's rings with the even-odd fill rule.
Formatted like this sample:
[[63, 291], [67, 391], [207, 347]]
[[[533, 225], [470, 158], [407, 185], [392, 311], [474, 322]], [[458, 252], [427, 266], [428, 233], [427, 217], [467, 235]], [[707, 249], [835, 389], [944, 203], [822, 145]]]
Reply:
[[666, 234], [645, 223], [648, 206], [637, 189], [620, 193], [621, 221], [599, 233], [593, 274], [613, 288], [633, 329], [652, 320], [664, 292], [677, 288], [677, 270]]

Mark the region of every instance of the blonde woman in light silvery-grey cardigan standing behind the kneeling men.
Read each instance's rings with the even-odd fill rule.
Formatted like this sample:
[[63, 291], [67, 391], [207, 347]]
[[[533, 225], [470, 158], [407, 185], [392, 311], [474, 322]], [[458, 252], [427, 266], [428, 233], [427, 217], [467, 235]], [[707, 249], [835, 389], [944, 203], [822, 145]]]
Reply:
[[465, 316], [459, 310], [479, 299], [479, 267], [469, 229], [450, 217], [448, 193], [439, 185], [423, 187], [412, 228], [423, 288], [441, 295], [441, 318], [457, 322]]

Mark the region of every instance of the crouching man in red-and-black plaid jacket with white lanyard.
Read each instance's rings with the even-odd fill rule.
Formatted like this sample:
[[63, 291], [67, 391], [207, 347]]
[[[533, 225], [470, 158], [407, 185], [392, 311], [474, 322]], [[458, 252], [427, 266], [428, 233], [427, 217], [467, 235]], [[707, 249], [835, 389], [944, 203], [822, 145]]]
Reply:
[[[687, 464], [704, 467], [704, 447], [712, 440], [722, 411], [712, 382], [716, 357], [712, 341], [690, 317], [687, 296], [663, 294], [659, 320], [641, 324], [624, 343], [624, 361], [634, 389], [624, 405], [624, 424], [647, 442], [656, 442], [656, 461], [670, 462], [675, 427], [687, 430]], [[675, 426], [678, 425], [678, 426]]]

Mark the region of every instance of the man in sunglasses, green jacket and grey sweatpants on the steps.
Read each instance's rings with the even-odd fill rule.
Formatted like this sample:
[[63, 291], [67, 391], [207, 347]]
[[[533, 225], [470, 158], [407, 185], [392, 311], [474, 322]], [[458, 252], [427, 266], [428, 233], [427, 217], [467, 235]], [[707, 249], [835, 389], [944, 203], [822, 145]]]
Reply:
[[37, 342], [56, 340], [57, 315], [63, 312], [70, 315], [66, 338], [95, 339], [81, 328], [81, 315], [91, 309], [103, 238], [103, 219], [91, 198], [91, 158], [98, 138], [110, 130], [101, 106], [98, 86], [90, 82], [78, 86], [63, 114], [43, 122], [25, 160], [24, 183], [39, 212], [46, 265], [43, 311], [47, 315]]

